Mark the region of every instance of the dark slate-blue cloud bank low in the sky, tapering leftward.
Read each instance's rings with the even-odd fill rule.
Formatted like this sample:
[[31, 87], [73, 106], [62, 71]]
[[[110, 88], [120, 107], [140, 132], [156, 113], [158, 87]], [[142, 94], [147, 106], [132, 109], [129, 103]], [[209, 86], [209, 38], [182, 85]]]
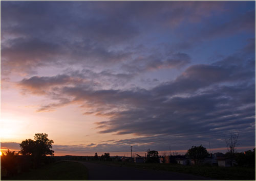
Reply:
[[[40, 83], [51, 88], [49, 92], [54, 90], [54, 99], [59, 99], [59, 103], [42, 107], [40, 111], [78, 103], [84, 114], [108, 116], [108, 121], [96, 123], [101, 134], [155, 135], [159, 139], [177, 136], [184, 142], [207, 138], [222, 147], [224, 145], [217, 139], [223, 139], [229, 131], [238, 130], [241, 135], [247, 134], [251, 140], [254, 139], [253, 64], [246, 57], [230, 56], [211, 65], [193, 65], [176, 80], [148, 90], [93, 89], [70, 78], [54, 84], [63, 75], [37, 77], [36, 83], [32, 77], [19, 82], [19, 85], [32, 89], [32, 93], [34, 88], [40, 91], [36, 86]], [[48, 84], [44, 84], [45, 80]], [[55, 86], [59, 88], [54, 89]], [[69, 99], [62, 104], [63, 97]], [[246, 137], [241, 140], [243, 144], [249, 144]]]

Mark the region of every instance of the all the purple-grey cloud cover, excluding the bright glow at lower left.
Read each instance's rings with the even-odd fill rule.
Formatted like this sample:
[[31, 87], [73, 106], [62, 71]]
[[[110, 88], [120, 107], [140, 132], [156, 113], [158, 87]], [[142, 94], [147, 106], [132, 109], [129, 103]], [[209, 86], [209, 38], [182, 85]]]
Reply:
[[[100, 134], [142, 137], [87, 147], [114, 145], [122, 150], [129, 143], [141, 149], [143, 144], [165, 149], [161, 145], [172, 143], [187, 149], [185, 143], [200, 144], [205, 139], [223, 147], [224, 134], [233, 130], [241, 132], [244, 145], [251, 145], [255, 17], [254, 11], [232, 13], [244, 5], [248, 6], [244, 2], [2, 2], [2, 72], [29, 74], [16, 85], [23, 93], [48, 98], [49, 104], [40, 105], [39, 112], [76, 104], [84, 115], [108, 118], [95, 125]], [[230, 18], [222, 20], [222, 15]], [[204, 41], [252, 32], [237, 53], [210, 64], [197, 63], [188, 50]], [[38, 68], [57, 66], [64, 66], [62, 73], [36, 75]], [[166, 69], [179, 70], [179, 75], [165, 82], [153, 75], [139, 76]], [[137, 77], [154, 87], [138, 82], [128, 86]]]

